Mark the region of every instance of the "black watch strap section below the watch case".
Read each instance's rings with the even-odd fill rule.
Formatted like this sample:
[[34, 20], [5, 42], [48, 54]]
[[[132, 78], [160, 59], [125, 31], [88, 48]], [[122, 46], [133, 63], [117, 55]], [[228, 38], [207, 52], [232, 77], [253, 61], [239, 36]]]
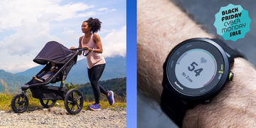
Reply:
[[187, 109], [188, 104], [174, 97], [174, 95], [169, 92], [166, 85], [164, 85], [164, 90], [161, 95], [161, 110], [163, 110], [178, 127], [182, 127], [183, 117]]

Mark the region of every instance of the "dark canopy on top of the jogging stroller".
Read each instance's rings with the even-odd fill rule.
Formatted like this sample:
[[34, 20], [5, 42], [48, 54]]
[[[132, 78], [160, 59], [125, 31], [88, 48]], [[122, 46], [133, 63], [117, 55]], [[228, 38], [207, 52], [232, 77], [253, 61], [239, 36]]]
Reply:
[[48, 62], [55, 64], [64, 64], [75, 54], [75, 51], [70, 50], [56, 41], [46, 43], [46, 46], [36, 55], [33, 62], [40, 65], [45, 65]]

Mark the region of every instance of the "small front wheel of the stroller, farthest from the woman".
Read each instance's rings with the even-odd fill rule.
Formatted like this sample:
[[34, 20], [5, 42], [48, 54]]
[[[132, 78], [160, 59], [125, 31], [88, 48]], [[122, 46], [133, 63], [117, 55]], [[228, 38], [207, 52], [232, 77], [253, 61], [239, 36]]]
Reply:
[[11, 108], [14, 112], [22, 113], [28, 109], [28, 97], [25, 93], [20, 92], [11, 99]]

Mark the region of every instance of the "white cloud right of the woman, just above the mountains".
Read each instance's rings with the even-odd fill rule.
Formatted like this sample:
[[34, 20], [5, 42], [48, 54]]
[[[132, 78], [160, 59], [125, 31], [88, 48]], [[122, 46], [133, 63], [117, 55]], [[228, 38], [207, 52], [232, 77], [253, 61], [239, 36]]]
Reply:
[[119, 30], [114, 30], [108, 33], [107, 36], [102, 38], [103, 53], [106, 57], [114, 56], [126, 56], [127, 51], [127, 38], [126, 38], [126, 26], [123, 26]]

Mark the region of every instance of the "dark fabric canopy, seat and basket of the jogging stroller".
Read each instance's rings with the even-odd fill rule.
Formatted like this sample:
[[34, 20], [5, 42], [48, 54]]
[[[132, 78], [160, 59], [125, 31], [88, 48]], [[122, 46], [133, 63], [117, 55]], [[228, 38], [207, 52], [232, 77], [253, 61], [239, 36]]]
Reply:
[[[50, 41], [46, 43], [46, 46], [36, 55], [33, 61], [40, 65], [46, 65], [41, 72], [46, 68], [50, 68], [50, 63], [61, 65], [61, 68], [55, 75], [51, 76], [43, 83], [55, 83], [65, 80], [78, 59], [78, 55], [75, 55], [75, 53], [75, 51], [66, 48], [58, 42]], [[65, 77], [63, 78], [63, 76]], [[33, 83], [33, 80], [26, 83], [26, 85], [30, 86], [33, 97], [41, 100], [64, 100], [65, 93], [67, 92], [66, 87], [44, 86], [45, 84], [43, 83]]]

